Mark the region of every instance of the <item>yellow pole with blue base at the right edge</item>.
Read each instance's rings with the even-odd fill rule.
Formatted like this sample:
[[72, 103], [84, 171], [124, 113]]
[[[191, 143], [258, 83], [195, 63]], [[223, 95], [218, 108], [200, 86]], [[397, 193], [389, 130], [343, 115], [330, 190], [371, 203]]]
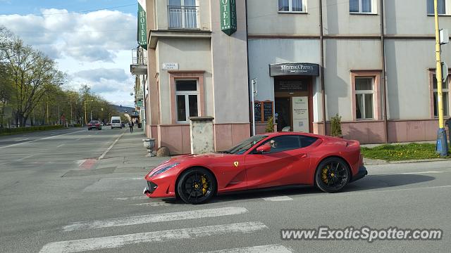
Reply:
[[[442, 38], [440, 40], [440, 27], [438, 26], [438, 4], [437, 0], [434, 0], [434, 18], [435, 18], [435, 77], [437, 77], [437, 100], [438, 100], [438, 132], [436, 142], [436, 152], [440, 156], [447, 156], [448, 143], [446, 138], [446, 131], [443, 125], [443, 92], [442, 92], [442, 60], [440, 58], [441, 44], [445, 44], [448, 38]], [[442, 42], [443, 41], [443, 42]], [[445, 65], [446, 66], [446, 65]], [[447, 72], [447, 70], [445, 70]], [[446, 80], [446, 77], [445, 77]]]

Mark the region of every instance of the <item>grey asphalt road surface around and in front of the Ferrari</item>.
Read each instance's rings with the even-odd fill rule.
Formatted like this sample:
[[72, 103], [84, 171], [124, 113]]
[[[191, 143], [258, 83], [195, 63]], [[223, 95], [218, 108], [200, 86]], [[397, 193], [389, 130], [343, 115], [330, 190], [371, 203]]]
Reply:
[[[450, 252], [450, 162], [369, 166], [343, 193], [299, 187], [185, 205], [142, 197], [142, 176], [161, 160], [127, 131], [0, 138], [0, 252]], [[444, 238], [280, 240], [282, 228], [319, 226], [440, 228]]]

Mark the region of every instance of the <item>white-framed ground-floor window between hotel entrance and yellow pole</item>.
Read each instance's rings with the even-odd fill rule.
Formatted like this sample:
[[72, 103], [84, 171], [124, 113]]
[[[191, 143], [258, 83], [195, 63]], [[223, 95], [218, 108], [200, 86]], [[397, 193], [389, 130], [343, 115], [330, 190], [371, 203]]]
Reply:
[[355, 77], [356, 119], [374, 118], [375, 77]]

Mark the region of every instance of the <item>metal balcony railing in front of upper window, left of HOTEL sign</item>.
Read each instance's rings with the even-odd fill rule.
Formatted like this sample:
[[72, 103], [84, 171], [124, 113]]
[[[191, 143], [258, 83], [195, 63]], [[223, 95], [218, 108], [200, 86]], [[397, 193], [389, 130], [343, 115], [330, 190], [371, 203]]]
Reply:
[[199, 6], [168, 6], [170, 29], [199, 29]]

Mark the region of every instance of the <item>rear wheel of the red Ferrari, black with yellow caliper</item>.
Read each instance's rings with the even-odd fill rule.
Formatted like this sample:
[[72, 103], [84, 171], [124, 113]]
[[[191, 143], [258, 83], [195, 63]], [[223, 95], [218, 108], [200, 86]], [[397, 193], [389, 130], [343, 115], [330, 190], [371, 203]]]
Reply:
[[350, 179], [350, 167], [339, 157], [326, 158], [316, 168], [315, 185], [326, 193], [339, 192]]

